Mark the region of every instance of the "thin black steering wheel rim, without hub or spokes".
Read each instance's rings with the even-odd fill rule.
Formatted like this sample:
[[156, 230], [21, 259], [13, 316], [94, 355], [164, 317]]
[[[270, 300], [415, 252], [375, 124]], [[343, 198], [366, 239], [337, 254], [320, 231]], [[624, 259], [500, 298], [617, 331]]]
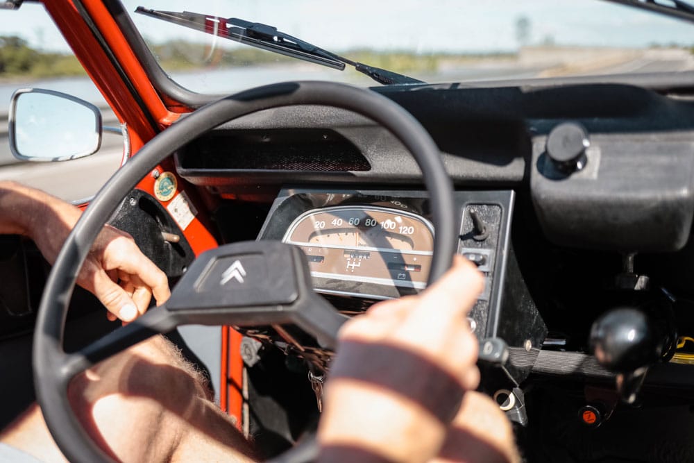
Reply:
[[67, 238], [46, 282], [33, 340], [37, 401], [61, 451], [72, 462], [108, 461], [74, 416], [67, 387], [74, 377], [62, 347], [67, 308], [77, 274], [103, 224], [128, 192], [164, 158], [227, 121], [282, 106], [332, 106], [356, 112], [387, 128], [412, 153], [430, 193], [434, 255], [429, 283], [452, 262], [457, 243], [452, 183], [439, 149], [419, 122], [393, 101], [370, 90], [325, 82], [280, 83], [228, 96], [183, 117], [148, 142], [96, 195]]

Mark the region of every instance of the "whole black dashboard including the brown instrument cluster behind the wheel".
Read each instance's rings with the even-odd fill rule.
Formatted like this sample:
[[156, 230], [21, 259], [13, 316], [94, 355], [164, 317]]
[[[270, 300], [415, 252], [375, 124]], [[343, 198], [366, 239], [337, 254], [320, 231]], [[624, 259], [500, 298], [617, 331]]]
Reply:
[[[661, 287], [694, 297], [684, 277], [694, 272], [686, 258], [690, 99], [553, 81], [373, 90], [411, 112], [439, 146], [457, 190], [458, 252], [486, 278], [471, 325], [479, 337], [509, 341], [525, 371], [517, 378], [543, 343], [588, 351], [591, 323], [609, 308], [658, 298]], [[551, 149], [565, 124], [584, 131], [575, 169], [560, 166]], [[316, 291], [344, 312], [421, 291], [436, 232], [421, 172], [373, 121], [319, 106], [266, 110], [174, 157], [180, 176], [219, 201], [214, 220], [224, 239], [301, 246]], [[636, 294], [628, 285], [641, 277], [650, 287]], [[678, 323], [694, 332], [694, 323]], [[547, 371], [564, 374], [557, 365]], [[581, 368], [572, 373], [605, 376]]]

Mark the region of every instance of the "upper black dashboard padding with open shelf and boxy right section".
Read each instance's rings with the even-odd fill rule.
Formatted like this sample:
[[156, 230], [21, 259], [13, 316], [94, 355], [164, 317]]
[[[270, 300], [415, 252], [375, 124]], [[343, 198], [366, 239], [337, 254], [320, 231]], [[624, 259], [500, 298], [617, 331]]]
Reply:
[[[690, 101], [616, 84], [379, 91], [425, 126], [457, 187], [530, 190], [552, 242], [620, 251], [684, 246], [694, 214]], [[543, 153], [552, 128], [566, 121], [586, 129], [589, 162], [557, 178]], [[181, 176], [221, 196], [272, 194], [286, 184], [421, 185], [416, 162], [387, 131], [323, 107], [239, 119], [176, 161]]]

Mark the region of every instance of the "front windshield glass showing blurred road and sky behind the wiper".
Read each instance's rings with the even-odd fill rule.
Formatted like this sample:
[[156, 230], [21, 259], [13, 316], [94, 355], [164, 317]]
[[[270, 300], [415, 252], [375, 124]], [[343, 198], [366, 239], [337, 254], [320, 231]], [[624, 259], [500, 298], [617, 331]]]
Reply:
[[162, 69], [201, 93], [291, 80], [379, 84], [354, 67], [340, 71], [194, 31], [137, 14], [138, 6], [266, 24], [347, 62], [428, 83], [694, 70], [694, 24], [597, 0], [124, 4]]

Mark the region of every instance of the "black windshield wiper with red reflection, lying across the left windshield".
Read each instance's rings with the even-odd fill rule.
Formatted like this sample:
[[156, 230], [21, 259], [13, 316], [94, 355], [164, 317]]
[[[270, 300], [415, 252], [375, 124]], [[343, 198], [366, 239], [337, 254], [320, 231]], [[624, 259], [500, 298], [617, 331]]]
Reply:
[[189, 27], [196, 31], [217, 35], [229, 40], [235, 40], [242, 44], [251, 45], [274, 53], [280, 53], [291, 58], [298, 58], [313, 62], [318, 65], [332, 67], [344, 71], [345, 65], [353, 66], [362, 74], [373, 78], [374, 81], [384, 85], [398, 83], [424, 83], [416, 78], [403, 76], [397, 72], [387, 71], [380, 67], [365, 65], [339, 56], [330, 51], [316, 47], [301, 39], [292, 37], [287, 33], [277, 30], [276, 27], [258, 22], [250, 22], [239, 18], [222, 18], [213, 15], [201, 15], [189, 11], [174, 12], [151, 10], [138, 6], [135, 12], [162, 19], [163, 21]]

